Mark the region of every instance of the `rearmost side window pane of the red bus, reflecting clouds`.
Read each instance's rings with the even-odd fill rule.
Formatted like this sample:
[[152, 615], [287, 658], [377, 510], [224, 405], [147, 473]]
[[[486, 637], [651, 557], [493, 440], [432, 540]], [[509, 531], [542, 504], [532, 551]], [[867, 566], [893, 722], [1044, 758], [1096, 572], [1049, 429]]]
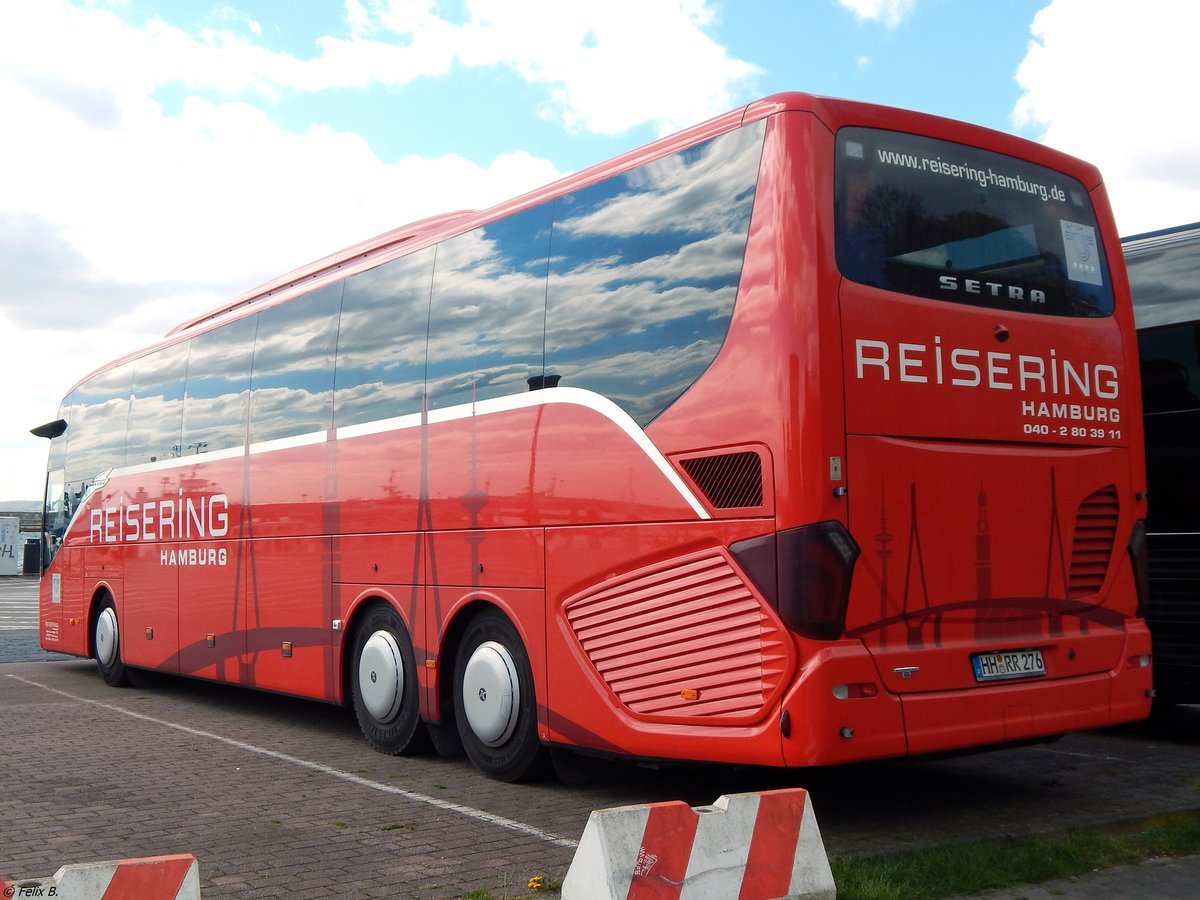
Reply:
[[737, 298], [764, 126], [558, 200], [546, 372], [646, 425], [716, 356]]

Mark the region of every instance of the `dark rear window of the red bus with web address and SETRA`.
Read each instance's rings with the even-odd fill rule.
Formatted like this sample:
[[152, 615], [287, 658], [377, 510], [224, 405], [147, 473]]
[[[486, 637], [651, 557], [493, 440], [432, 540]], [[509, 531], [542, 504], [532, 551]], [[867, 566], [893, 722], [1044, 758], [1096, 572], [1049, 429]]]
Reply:
[[1108, 316], [1112, 288], [1084, 186], [946, 140], [838, 132], [838, 266], [902, 294], [1049, 316]]

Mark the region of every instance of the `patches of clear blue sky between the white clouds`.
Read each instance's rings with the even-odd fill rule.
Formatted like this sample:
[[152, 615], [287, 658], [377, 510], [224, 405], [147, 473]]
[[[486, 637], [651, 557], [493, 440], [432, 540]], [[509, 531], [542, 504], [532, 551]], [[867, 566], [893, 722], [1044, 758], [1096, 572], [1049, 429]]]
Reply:
[[[468, 20], [466, 0], [430, 6], [450, 23]], [[871, 10], [869, 2], [858, 6]], [[1030, 40], [1030, 23], [1044, 0], [895, 2], [890, 6], [904, 13], [895, 25], [887, 20], [888, 6], [880, 4], [881, 12], [871, 16], [856, 14], [854, 5], [838, 0], [724, 0], [709, 5], [715, 17], [703, 31], [730, 58], [757, 70], [737, 85], [733, 104], [775, 91], [806, 90], [920, 106], [1016, 130], [1010, 122], [1015, 72]], [[346, 7], [336, 1], [133, 0], [124, 6], [121, 18], [131, 24], [158, 18], [192, 34], [222, 31], [306, 61], [320, 59], [322, 38], [350, 32]], [[629, 28], [637, 26], [635, 16], [623, 18], [635, 19]], [[391, 35], [396, 46], [415, 40]], [[594, 40], [599, 43], [600, 35]], [[962, 70], [970, 70], [971, 77], [954, 74]], [[230, 94], [178, 83], [154, 96], [168, 110], [178, 110], [186, 96], [262, 100], [253, 88]], [[619, 95], [612, 100], [619, 102]], [[272, 115], [287, 127], [304, 131], [320, 121], [361, 134], [386, 161], [413, 152], [458, 154], [486, 166], [498, 152], [527, 150], [552, 158], [563, 169], [576, 169], [647, 143], [662, 131], [655, 122], [636, 120], [616, 132], [565, 130], [562, 120], [539, 115], [547, 102], [544, 84], [529, 83], [504, 64], [473, 66], [460, 60], [450, 62], [444, 76], [414, 78], [401, 88], [284, 90], [270, 102]], [[691, 119], [680, 125], [688, 122]]]

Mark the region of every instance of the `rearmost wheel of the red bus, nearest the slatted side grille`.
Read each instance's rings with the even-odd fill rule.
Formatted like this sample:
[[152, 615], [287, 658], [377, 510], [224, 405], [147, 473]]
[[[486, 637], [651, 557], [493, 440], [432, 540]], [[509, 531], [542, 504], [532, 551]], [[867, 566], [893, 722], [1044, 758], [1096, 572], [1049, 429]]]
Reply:
[[541, 773], [533, 670], [516, 628], [498, 610], [472, 619], [455, 660], [455, 719], [467, 756], [488, 778]]

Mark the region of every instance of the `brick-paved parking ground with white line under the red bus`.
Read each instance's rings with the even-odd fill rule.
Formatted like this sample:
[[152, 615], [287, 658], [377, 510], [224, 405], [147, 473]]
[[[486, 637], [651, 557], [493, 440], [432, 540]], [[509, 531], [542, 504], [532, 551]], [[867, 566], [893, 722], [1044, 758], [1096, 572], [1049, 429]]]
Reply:
[[181, 679], [114, 690], [84, 660], [0, 664], [0, 875], [192, 852], [205, 898], [521, 896], [534, 875], [563, 877], [592, 809], [792, 785], [830, 856], [1200, 809], [1200, 707], [955, 760], [623, 764], [575, 786], [382, 756], [317, 703]]

